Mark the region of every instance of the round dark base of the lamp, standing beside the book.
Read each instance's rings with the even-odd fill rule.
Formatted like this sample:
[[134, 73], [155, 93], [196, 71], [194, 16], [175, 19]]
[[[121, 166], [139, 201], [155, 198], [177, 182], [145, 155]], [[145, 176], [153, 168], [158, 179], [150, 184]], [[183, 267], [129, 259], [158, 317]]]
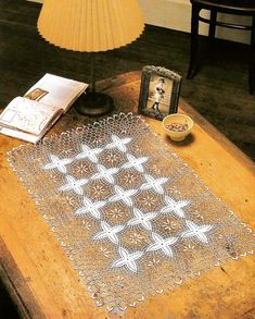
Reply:
[[82, 94], [75, 102], [77, 112], [91, 116], [109, 113], [113, 107], [113, 99], [109, 95], [98, 91]]

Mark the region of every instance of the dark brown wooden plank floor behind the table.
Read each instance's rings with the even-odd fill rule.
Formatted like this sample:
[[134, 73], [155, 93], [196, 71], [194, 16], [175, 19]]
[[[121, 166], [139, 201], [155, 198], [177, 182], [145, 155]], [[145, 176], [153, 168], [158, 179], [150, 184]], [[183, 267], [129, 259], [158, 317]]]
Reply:
[[[40, 4], [25, 0], [0, 1], [0, 109], [23, 96], [47, 72], [91, 81], [89, 53], [49, 46], [39, 36], [36, 25], [40, 9]], [[207, 40], [200, 38], [201, 69], [191, 81], [186, 78], [190, 34], [146, 25], [132, 44], [100, 52], [95, 78], [144, 65], [174, 70], [182, 75], [181, 96], [255, 160], [255, 96], [248, 95], [248, 46], [220, 39], [211, 46]]]

